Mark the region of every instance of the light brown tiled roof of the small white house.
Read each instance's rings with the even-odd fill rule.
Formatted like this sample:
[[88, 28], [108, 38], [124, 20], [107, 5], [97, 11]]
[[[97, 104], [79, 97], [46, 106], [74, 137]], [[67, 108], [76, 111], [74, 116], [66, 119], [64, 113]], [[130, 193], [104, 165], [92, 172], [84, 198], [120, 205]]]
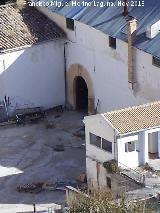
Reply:
[[104, 114], [119, 134], [160, 126], [160, 101]]

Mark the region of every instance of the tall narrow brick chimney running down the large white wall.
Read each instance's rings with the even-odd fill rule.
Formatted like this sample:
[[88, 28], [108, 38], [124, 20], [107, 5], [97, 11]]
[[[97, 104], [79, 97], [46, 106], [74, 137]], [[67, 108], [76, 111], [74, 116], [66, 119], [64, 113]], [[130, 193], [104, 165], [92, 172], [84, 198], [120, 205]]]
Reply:
[[135, 83], [135, 66], [134, 66], [134, 49], [133, 43], [136, 37], [137, 20], [131, 19], [128, 21], [128, 82], [131, 89]]

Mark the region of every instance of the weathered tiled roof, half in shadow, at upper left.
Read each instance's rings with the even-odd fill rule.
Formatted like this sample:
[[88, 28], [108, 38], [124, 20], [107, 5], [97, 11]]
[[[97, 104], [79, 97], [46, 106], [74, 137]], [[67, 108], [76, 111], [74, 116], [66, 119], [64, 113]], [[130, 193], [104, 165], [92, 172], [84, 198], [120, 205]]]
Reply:
[[0, 52], [64, 37], [65, 33], [34, 7], [0, 6]]

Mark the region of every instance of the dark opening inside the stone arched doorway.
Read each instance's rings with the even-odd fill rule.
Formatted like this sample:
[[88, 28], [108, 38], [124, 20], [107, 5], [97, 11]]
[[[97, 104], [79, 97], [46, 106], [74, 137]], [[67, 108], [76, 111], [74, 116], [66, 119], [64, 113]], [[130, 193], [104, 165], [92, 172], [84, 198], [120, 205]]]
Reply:
[[76, 78], [76, 109], [88, 111], [88, 88], [80, 76]]

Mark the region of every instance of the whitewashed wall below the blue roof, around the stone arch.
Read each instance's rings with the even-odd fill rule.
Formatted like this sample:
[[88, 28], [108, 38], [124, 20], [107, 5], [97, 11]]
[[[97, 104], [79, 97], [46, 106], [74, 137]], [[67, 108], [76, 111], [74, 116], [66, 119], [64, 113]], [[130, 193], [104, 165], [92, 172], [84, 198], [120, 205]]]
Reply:
[[75, 31], [66, 29], [65, 18], [40, 7], [68, 35], [67, 70], [83, 65], [94, 85], [99, 112], [138, 105], [160, 99], [160, 68], [152, 65], [152, 56], [135, 50], [135, 90], [128, 86], [127, 43], [117, 39], [116, 50], [109, 47], [108, 36], [75, 21]]

